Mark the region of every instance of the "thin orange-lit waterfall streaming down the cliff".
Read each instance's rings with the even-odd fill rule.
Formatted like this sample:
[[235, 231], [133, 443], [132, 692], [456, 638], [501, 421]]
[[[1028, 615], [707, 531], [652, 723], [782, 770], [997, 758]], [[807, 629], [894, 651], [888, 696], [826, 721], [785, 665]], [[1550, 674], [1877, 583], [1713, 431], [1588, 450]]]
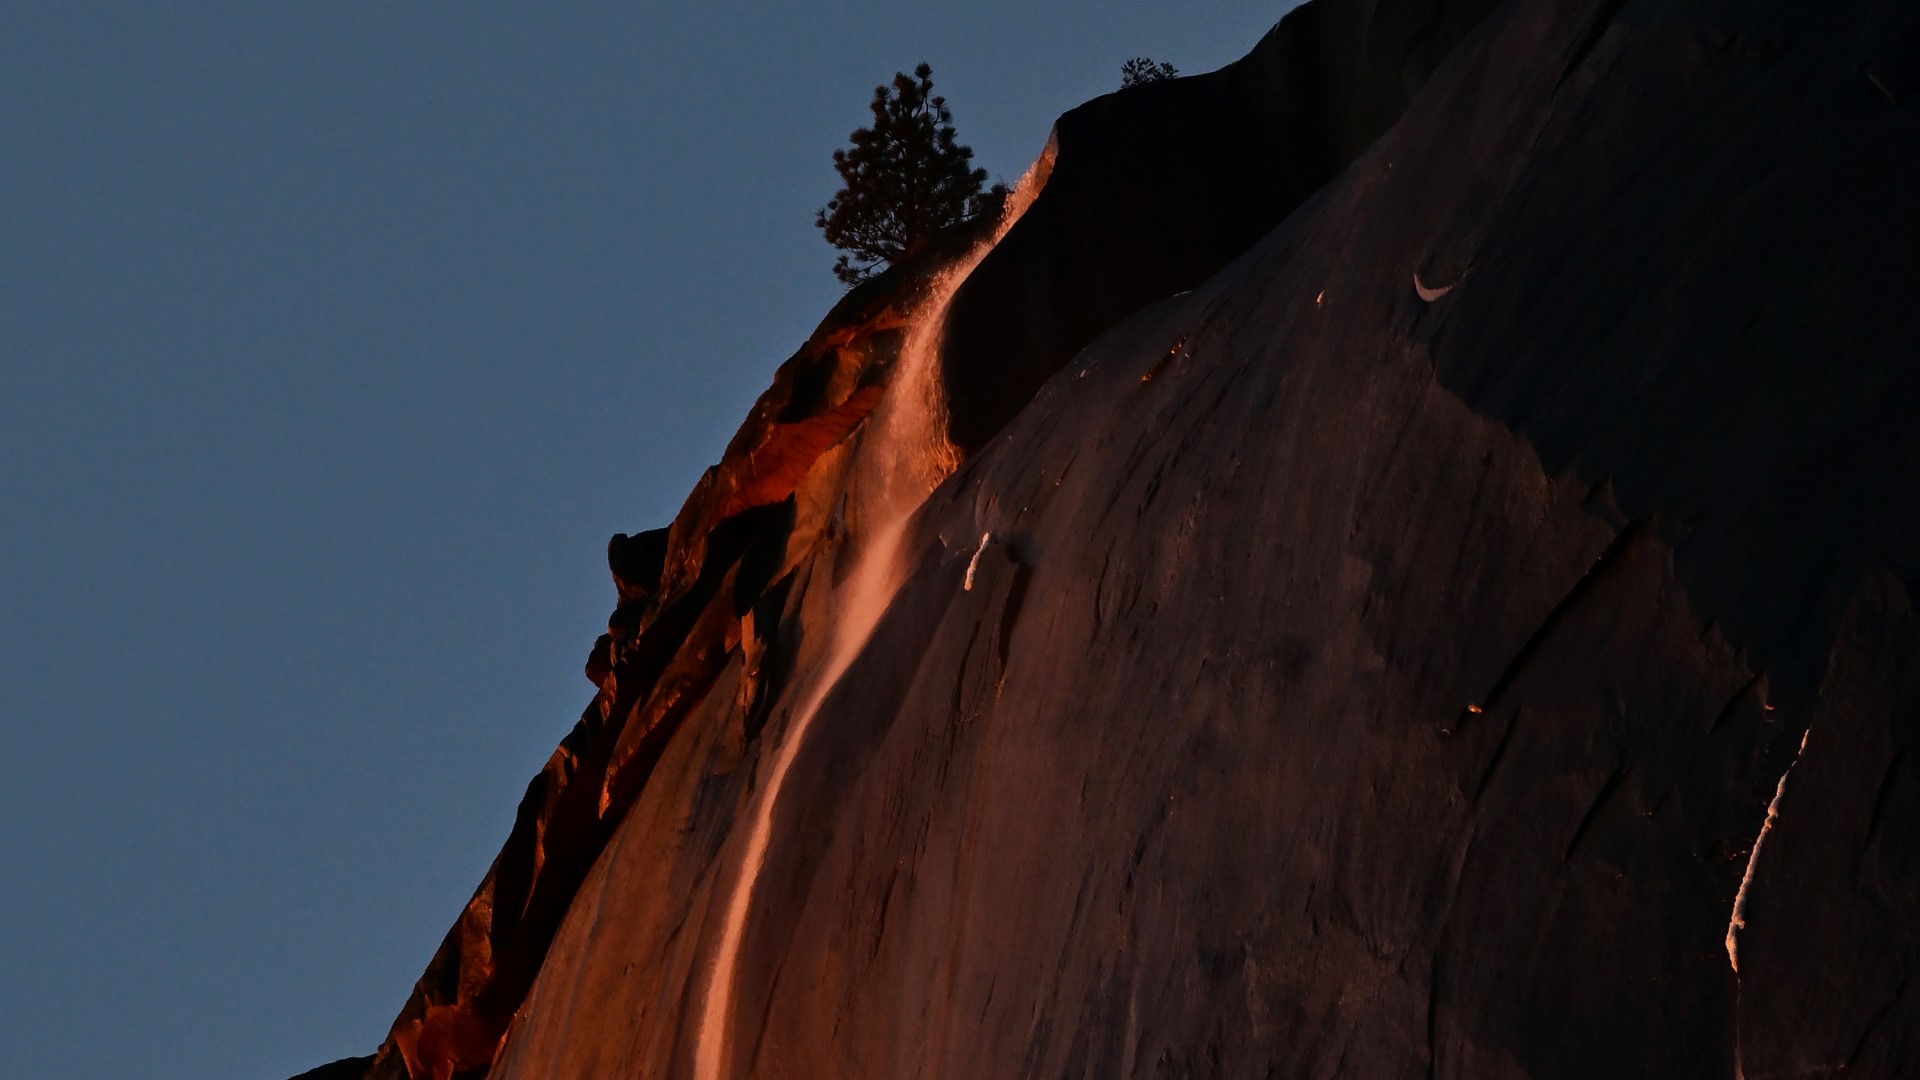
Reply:
[[1046, 184], [1052, 163], [1054, 144], [1048, 142], [1041, 158], [1008, 194], [1006, 209], [993, 236], [975, 244], [933, 279], [925, 300], [914, 311], [914, 327], [895, 361], [893, 384], [860, 436], [849, 490], [860, 511], [852, 521], [868, 536], [860, 538], [854, 569], [835, 598], [831, 638], [824, 661], [808, 684], [806, 698], [801, 700], [787, 723], [764, 784], [758, 784], [747, 851], [728, 897], [720, 947], [714, 953], [701, 1007], [701, 1026], [693, 1049], [697, 1080], [720, 1080], [726, 1055], [726, 1020], [733, 1005], [733, 974], [739, 967], [739, 942], [753, 905], [753, 886], [766, 865], [766, 844], [774, 830], [774, 803], [780, 801], [787, 769], [793, 767], [820, 703], [847, 673], [847, 665], [866, 648], [881, 613], [893, 603], [893, 594], [906, 571], [900, 565], [900, 538], [906, 534], [908, 519], [960, 463], [960, 454], [947, 442], [947, 404], [941, 394], [939, 350], [947, 329], [947, 306], [973, 273], [973, 267], [1033, 204], [1033, 198]]

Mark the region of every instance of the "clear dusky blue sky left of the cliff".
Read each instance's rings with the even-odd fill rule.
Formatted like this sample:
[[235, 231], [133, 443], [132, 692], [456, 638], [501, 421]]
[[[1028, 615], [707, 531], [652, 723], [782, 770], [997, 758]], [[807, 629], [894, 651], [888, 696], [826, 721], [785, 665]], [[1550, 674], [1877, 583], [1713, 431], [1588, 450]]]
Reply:
[[1290, 4], [0, 6], [0, 1061], [378, 1043], [933, 63], [1016, 179]]

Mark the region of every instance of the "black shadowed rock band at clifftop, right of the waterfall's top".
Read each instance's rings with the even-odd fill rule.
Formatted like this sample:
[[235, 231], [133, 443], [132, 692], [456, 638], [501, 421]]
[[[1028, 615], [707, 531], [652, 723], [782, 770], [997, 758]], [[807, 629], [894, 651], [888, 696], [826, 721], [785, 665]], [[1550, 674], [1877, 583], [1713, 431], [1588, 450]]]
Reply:
[[1062, 115], [1046, 188], [947, 317], [954, 446], [979, 450], [1100, 332], [1271, 233], [1400, 119], [1492, 8], [1306, 4], [1219, 71]]

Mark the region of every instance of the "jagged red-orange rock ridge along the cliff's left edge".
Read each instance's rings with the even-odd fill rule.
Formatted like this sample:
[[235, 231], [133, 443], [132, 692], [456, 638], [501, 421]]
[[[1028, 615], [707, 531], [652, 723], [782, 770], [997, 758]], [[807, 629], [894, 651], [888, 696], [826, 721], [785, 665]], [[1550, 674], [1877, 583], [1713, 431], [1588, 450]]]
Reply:
[[[507, 844], [394, 1020], [371, 1080], [470, 1068], [484, 1057], [474, 1047], [497, 1045], [660, 746], [743, 648], [741, 619], [768, 603], [778, 615], [776, 578], [797, 557], [789, 538], [822, 530], [820, 488], [833, 482], [814, 480], [804, 507], [801, 488], [822, 459], [843, 461], [835, 450], [891, 379], [906, 311], [983, 227], [956, 225], [849, 292], [781, 365], [674, 525], [609, 542], [618, 605], [586, 661], [599, 694], [528, 784]], [[776, 623], [768, 617], [753, 632], [756, 657], [770, 650]], [[772, 705], [764, 688], [776, 682], [776, 671], [756, 667], [749, 686], [762, 692], [737, 692], [755, 728]]]

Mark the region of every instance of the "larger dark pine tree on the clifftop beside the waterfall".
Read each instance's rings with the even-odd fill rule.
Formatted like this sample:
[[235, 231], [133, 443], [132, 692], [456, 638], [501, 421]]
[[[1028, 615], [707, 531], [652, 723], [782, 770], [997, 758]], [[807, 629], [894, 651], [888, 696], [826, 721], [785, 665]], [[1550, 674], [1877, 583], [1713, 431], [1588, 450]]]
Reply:
[[876, 86], [872, 110], [874, 127], [833, 152], [847, 186], [814, 219], [847, 252], [833, 263], [847, 284], [918, 252], [954, 221], [996, 213], [1006, 198], [1000, 184], [983, 190], [987, 169], [970, 167], [973, 152], [954, 138], [947, 98], [933, 94], [933, 67], [922, 63], [912, 77], [897, 73], [891, 88]]

